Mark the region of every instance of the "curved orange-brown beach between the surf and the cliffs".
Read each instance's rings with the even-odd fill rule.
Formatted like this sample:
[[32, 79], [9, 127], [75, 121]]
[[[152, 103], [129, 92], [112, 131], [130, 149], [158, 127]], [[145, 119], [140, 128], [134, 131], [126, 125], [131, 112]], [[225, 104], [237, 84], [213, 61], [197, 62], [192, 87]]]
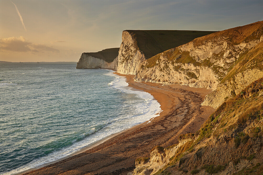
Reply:
[[134, 82], [133, 75], [122, 76], [127, 78], [129, 86], [154, 96], [163, 110], [160, 116], [89, 150], [25, 174], [127, 175], [135, 168], [136, 158], [149, 157], [151, 148], [156, 145], [175, 144], [181, 134], [195, 133], [215, 111], [212, 107], [200, 106], [205, 95], [211, 93], [205, 88]]

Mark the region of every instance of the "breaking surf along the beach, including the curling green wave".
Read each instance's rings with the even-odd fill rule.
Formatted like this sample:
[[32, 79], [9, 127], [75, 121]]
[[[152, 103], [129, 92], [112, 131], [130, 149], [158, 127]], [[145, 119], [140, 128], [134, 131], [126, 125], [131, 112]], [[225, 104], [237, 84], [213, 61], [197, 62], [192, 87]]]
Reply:
[[[99, 141], [111, 134], [120, 132], [145, 121], [148, 121], [149, 123], [154, 117], [159, 116], [159, 112], [161, 111], [160, 104], [154, 100], [154, 97], [151, 94], [144, 91], [131, 90], [132, 88], [128, 86], [126, 79], [122, 76], [113, 74], [113, 72], [114, 71], [110, 70], [109, 73], [107, 73], [107, 75], [115, 77], [113, 81], [108, 83], [108, 86], [117, 91], [121, 91], [122, 93], [134, 94], [140, 99], [138, 103], [133, 101], [133, 99], [130, 99], [131, 102], [135, 104], [133, 105], [134, 112], [127, 115], [125, 114], [124, 116], [116, 116], [104, 123], [90, 126], [90, 128], [87, 128], [84, 132], [75, 134], [75, 137], [65, 136], [52, 143], [47, 143], [43, 146], [48, 146], [48, 148], [50, 148], [48, 149], [50, 150], [48, 155], [33, 159], [31, 162], [4, 174], [18, 174], [31, 168], [43, 167], [54, 161], [70, 156], [75, 152], [80, 151], [83, 147]], [[130, 96], [133, 97], [134, 95]], [[123, 97], [129, 97], [129, 95], [124, 94]], [[55, 149], [54, 147], [57, 146], [58, 143], [61, 143], [62, 146], [60, 146], [59, 149]]]

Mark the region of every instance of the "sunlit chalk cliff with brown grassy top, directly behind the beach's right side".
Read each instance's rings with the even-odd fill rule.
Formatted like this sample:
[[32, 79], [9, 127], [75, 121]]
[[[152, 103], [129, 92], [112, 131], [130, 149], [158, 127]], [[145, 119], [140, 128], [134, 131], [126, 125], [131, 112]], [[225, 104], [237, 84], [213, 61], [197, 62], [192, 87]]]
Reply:
[[262, 21], [215, 32], [143, 61], [134, 79], [215, 90], [203, 105], [216, 108], [263, 76], [262, 40]]

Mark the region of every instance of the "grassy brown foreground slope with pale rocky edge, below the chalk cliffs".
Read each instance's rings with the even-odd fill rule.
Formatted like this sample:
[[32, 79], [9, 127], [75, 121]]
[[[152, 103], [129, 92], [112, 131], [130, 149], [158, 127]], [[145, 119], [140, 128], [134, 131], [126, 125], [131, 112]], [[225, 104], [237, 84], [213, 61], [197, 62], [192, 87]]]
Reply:
[[263, 173], [263, 78], [224, 102], [195, 134], [178, 144], [156, 146], [150, 157], [136, 159], [130, 174]]

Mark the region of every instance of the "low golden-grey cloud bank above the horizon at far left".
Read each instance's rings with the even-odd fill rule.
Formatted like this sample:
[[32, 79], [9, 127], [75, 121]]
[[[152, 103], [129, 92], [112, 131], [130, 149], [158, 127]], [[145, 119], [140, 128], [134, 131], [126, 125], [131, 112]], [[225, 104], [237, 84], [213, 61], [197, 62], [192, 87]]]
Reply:
[[19, 38], [16, 37], [0, 38], [0, 51], [3, 50], [13, 51], [13, 52], [59, 53], [59, 50], [53, 48], [52, 46], [27, 42], [26, 39], [22, 36], [20, 36]]

